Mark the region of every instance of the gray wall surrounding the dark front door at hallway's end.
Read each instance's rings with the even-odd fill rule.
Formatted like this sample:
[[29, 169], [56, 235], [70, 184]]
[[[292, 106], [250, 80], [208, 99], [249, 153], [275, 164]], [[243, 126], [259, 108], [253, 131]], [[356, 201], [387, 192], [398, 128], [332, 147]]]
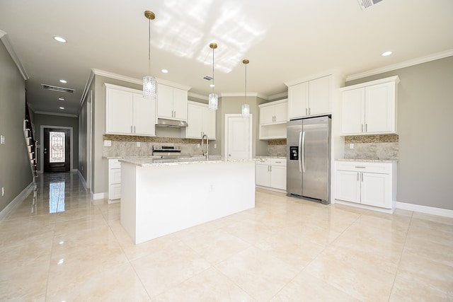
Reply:
[[44, 139], [41, 137], [41, 126], [52, 126], [55, 128], [58, 127], [72, 127], [72, 150], [71, 150], [71, 160], [72, 168], [77, 169], [79, 166], [79, 118], [78, 117], [65, 117], [61, 115], [41, 115], [35, 113], [35, 119], [33, 123], [35, 124], [35, 134], [36, 139], [38, 140], [38, 170], [42, 170], [41, 165], [41, 155], [42, 150], [44, 149]]

